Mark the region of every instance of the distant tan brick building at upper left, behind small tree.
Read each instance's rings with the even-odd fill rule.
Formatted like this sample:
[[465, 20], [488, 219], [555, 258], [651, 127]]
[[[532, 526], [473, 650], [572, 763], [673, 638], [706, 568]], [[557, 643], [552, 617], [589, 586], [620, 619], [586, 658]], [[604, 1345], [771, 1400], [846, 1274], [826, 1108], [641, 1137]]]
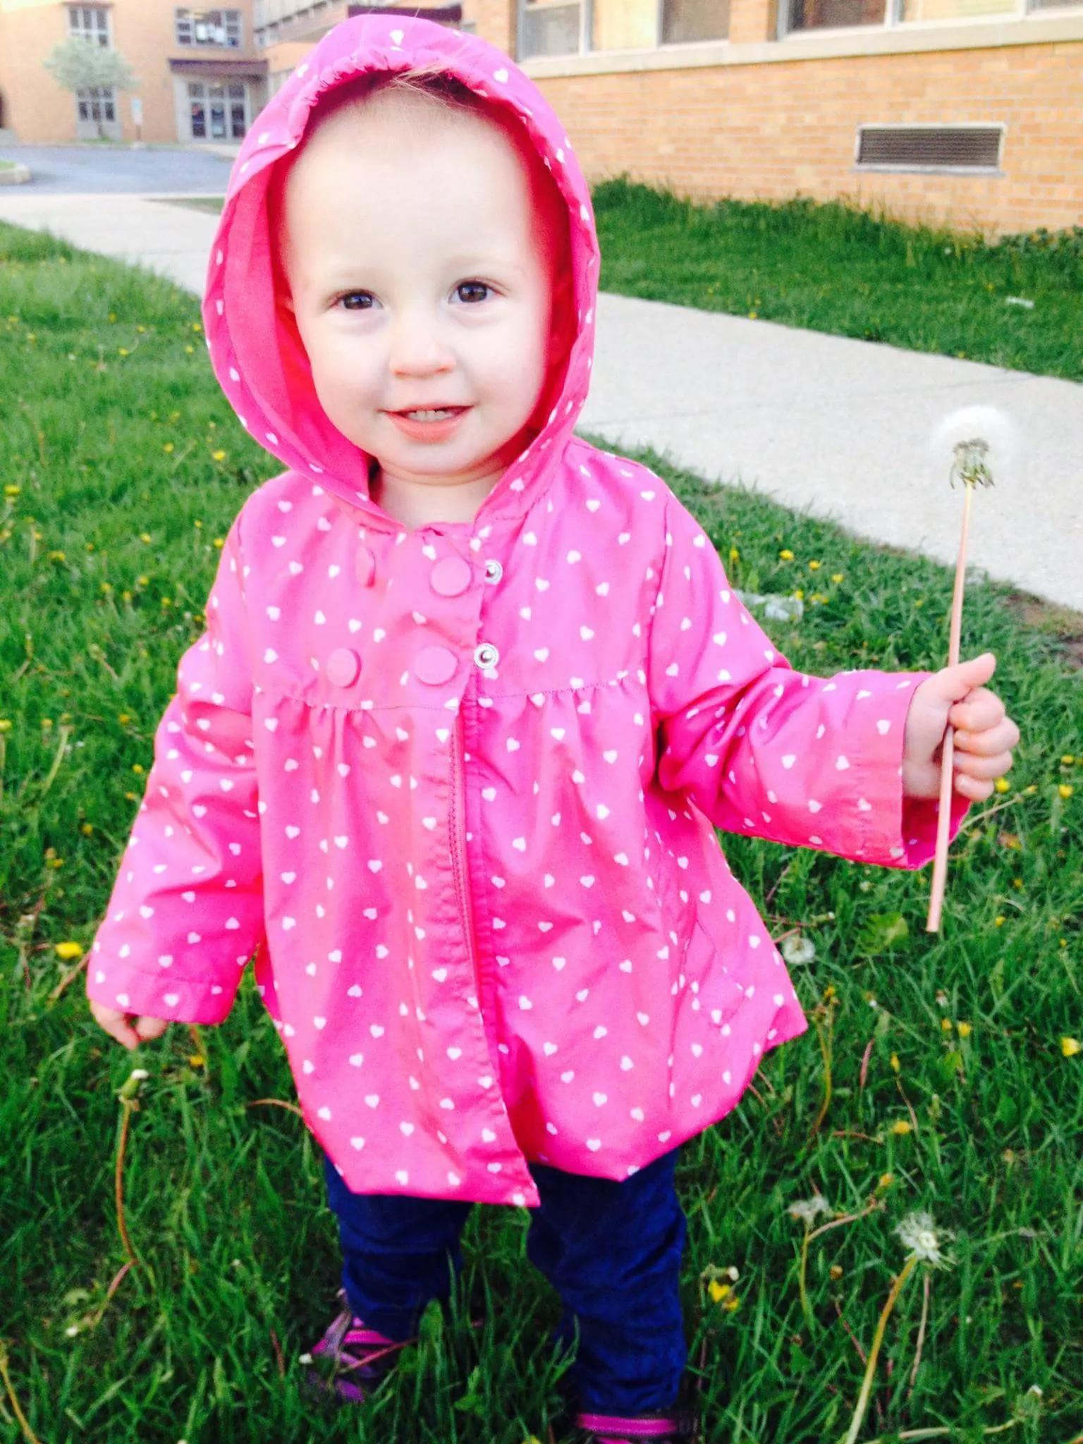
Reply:
[[[0, 0], [0, 130], [36, 143], [90, 140], [100, 129], [114, 140], [237, 142], [267, 101], [251, 9]], [[139, 87], [62, 90], [42, 61], [69, 36], [120, 51]]]

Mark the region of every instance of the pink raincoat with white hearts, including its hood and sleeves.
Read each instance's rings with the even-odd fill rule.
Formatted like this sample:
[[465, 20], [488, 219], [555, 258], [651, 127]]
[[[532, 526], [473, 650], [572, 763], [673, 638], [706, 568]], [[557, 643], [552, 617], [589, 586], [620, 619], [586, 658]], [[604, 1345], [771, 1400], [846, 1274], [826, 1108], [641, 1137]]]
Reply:
[[[474, 523], [367, 494], [276, 313], [266, 192], [325, 91], [439, 58], [510, 107], [567, 201], [563, 397]], [[305, 1118], [355, 1191], [536, 1204], [527, 1160], [624, 1178], [741, 1099], [804, 1015], [715, 827], [918, 866], [924, 674], [794, 673], [650, 471], [572, 435], [593, 342], [591, 198], [500, 51], [349, 20], [234, 168], [206, 334], [286, 471], [230, 530], [94, 943], [91, 998], [219, 1022], [245, 963]]]

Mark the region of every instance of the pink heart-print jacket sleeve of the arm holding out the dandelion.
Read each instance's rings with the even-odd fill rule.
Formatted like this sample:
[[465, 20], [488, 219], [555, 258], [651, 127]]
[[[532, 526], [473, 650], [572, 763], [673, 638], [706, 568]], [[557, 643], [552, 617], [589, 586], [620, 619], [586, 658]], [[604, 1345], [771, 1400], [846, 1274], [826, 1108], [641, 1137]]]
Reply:
[[[930, 673], [790, 667], [732, 592], [718, 552], [671, 497], [651, 619], [658, 781], [726, 832], [918, 868], [939, 804], [902, 797], [902, 741]], [[952, 833], [967, 804], [956, 797]]]

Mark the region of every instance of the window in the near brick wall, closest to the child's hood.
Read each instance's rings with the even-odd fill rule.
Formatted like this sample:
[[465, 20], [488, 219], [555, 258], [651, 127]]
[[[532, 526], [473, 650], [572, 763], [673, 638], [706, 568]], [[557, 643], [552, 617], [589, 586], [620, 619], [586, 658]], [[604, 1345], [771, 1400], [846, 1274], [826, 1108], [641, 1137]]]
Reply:
[[728, 35], [729, 0], [518, 0], [520, 59], [645, 51]]

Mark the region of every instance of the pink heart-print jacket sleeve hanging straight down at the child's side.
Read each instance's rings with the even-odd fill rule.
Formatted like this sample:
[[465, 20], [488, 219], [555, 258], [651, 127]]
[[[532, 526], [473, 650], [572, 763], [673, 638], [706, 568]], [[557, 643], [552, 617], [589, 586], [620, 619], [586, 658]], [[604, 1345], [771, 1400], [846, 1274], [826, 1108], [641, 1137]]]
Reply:
[[87, 970], [94, 1001], [182, 1022], [225, 1018], [263, 940], [240, 524], [222, 547], [206, 630], [180, 658]]

